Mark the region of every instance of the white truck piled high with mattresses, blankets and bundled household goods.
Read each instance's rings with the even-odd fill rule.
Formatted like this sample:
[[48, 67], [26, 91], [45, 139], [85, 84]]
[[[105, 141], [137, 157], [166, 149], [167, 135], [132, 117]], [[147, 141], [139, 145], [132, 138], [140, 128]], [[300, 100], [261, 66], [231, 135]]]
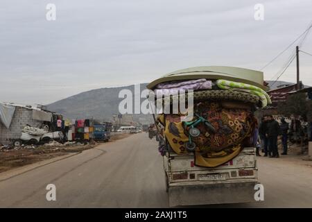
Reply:
[[[169, 205], [254, 201], [259, 183], [254, 111], [270, 104], [263, 73], [236, 67], [194, 67], [154, 80], [150, 101], [173, 107], [182, 98], [185, 113], [155, 114]], [[181, 92], [187, 92], [182, 94]], [[161, 96], [159, 96], [161, 95]], [[183, 97], [184, 96], [184, 97]], [[173, 109], [171, 109], [173, 110]], [[190, 112], [190, 111], [188, 111]]]

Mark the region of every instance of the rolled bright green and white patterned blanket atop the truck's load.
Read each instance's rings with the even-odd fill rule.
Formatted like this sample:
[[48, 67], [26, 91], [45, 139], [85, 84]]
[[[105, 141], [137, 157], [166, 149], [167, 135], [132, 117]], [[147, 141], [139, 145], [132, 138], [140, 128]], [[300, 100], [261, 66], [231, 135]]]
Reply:
[[247, 92], [257, 95], [259, 96], [259, 99], [262, 103], [262, 107], [266, 107], [266, 105], [272, 103], [270, 96], [268, 96], [268, 94], [263, 89], [257, 86], [222, 79], [217, 80], [216, 84], [220, 89], [232, 89], [234, 91]]

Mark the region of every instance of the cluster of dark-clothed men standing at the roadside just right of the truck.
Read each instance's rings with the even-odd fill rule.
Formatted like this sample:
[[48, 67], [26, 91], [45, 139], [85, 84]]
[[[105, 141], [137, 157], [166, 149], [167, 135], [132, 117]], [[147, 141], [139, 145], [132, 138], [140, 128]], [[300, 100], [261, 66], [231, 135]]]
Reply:
[[[288, 123], [284, 118], [281, 119], [281, 123], [278, 123], [270, 114], [262, 117], [259, 126], [259, 138], [261, 139], [265, 157], [279, 157], [277, 149], [279, 135], [281, 135], [281, 142], [283, 144], [283, 153], [281, 155], [287, 155], [288, 129]], [[260, 155], [259, 149], [257, 150], [257, 155]]]

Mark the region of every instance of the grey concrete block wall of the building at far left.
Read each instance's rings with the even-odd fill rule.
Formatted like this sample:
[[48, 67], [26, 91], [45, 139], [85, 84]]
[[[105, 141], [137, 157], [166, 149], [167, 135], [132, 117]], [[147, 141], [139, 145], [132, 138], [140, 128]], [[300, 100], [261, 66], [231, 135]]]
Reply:
[[10, 128], [6, 128], [0, 123], [0, 144], [10, 144], [10, 140], [19, 139], [21, 137], [21, 129], [26, 124], [39, 127], [42, 126], [42, 121], [33, 120], [33, 110], [16, 107], [10, 124]]

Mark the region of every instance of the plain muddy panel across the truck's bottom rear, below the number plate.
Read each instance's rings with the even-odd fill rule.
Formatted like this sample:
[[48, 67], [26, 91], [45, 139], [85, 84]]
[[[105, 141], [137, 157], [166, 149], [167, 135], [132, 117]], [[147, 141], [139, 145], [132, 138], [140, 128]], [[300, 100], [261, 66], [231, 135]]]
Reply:
[[254, 185], [250, 182], [230, 182], [201, 185], [174, 185], [168, 187], [169, 205], [209, 205], [246, 203], [254, 201]]

